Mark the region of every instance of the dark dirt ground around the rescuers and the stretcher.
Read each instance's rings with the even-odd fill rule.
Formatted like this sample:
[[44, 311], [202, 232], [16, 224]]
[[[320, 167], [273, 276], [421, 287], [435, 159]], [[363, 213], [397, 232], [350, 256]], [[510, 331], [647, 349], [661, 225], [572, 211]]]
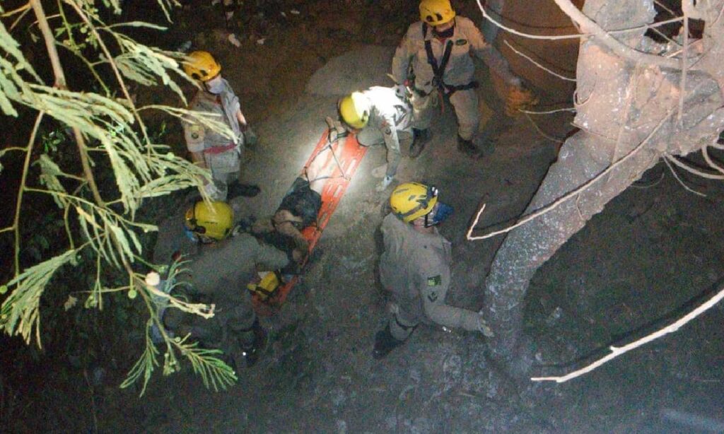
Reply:
[[[193, 49], [214, 52], [261, 139], [248, 153], [244, 174], [262, 187], [261, 195], [240, 203], [249, 213], [265, 216], [276, 208], [319, 139], [324, 116], [334, 115], [337, 98], [369, 85], [392, 84], [385, 72], [414, 20], [413, 3], [379, 8], [365, 7], [363, 1], [319, 1], [313, 8], [283, 4], [277, 11], [287, 15], [283, 25], [243, 29], [240, 48], [225, 39], [219, 9], [185, 9], [177, 17], [178, 27], [163, 43], [172, 47], [191, 40]], [[479, 20], [473, 4], [460, 9]], [[535, 50], [557, 58], [559, 48]], [[567, 49], [557, 59], [568, 56], [572, 68], [575, 52]], [[509, 50], [505, 54], [515, 56]], [[542, 95], [543, 107], [571, 101], [570, 86], [548, 86], [535, 79], [540, 74], [535, 67], [512, 57], [511, 63]], [[448, 302], [476, 310], [484, 302], [481, 286], [501, 240], [466, 242], [469, 221], [483, 202], [487, 212], [481, 227], [518, 216], [555, 161], [559, 144], [551, 138], [563, 140], [573, 128], [570, 114], [493, 116], [500, 112], [495, 96], [500, 85], [483, 64], [479, 79], [481, 116], [497, 119], [501, 131], [494, 153], [479, 160], [458, 153], [448, 106], [432, 125], [434, 140], [419, 158], [405, 157], [397, 174], [400, 182], [437, 185], [442, 200], [455, 207], [441, 229], [454, 245]], [[172, 137], [180, 139], [179, 130], [174, 127]], [[179, 145], [177, 151], [182, 149]], [[79, 414], [72, 430], [724, 431], [724, 310], [718, 307], [678, 333], [561, 385], [513, 380], [485, 357], [483, 336], [441, 328], [420, 327], [405, 346], [382, 361], [372, 359], [374, 333], [385, 320], [375, 269], [387, 195], [374, 191], [370, 172], [383, 162], [384, 148], [371, 148], [303, 284], [276, 315], [262, 318], [271, 332], [270, 345], [256, 367], [238, 373], [236, 386], [207, 391], [187, 366], [170, 378], [153, 378], [146, 396], [138, 398], [137, 391], [119, 390], [109, 377], [91, 392], [93, 414]], [[536, 273], [526, 315], [537, 349], [535, 374], [573, 370], [592, 355], [605, 354], [607, 345], [631, 341], [678, 318], [724, 276], [724, 185], [684, 181], [707, 197], [687, 192], [668, 169], [657, 166]], [[60, 419], [52, 414], [51, 402], [42, 408], [49, 421]]]

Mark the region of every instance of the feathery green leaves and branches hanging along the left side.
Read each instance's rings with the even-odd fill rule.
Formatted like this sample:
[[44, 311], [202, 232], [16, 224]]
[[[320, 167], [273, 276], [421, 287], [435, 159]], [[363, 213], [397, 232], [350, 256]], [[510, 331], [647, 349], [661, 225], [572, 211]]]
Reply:
[[[175, 0], [157, 0], [157, 3], [167, 18], [170, 18], [170, 8], [178, 5]], [[180, 264], [172, 264], [169, 283], [161, 289], [149, 283], [143, 273], [138, 273], [138, 268], [159, 268], [143, 259], [143, 234], [157, 228], [136, 220], [140, 207], [152, 197], [199, 187], [209, 178], [208, 171], [175, 156], [167, 145], [159, 143], [165, 124], [161, 124], [156, 134], [149, 133], [141, 114], [147, 110], [161, 111], [167, 116], [200, 122], [227, 137], [232, 137], [232, 132], [213, 116], [200, 116], [171, 106], [135, 105], [128, 87], [130, 82], [167, 86], [185, 105], [180, 85], [174, 82], [174, 77], [190, 80], [180, 67], [184, 56], [145, 46], [121, 32], [124, 28], [163, 30], [164, 27], [144, 22], [106, 24], [98, 8], [105, 7], [117, 17], [121, 12], [119, 0], [103, 0], [102, 4], [93, 0], [59, 1], [59, 10], [51, 22], [41, 1], [30, 0], [30, 7], [28, 16], [34, 16], [30, 20], [26, 18], [25, 25], [32, 24], [40, 30], [51, 59], [54, 81], [41, 78], [36, 69], [45, 76], [46, 65], [34, 67], [23, 55], [18, 40], [0, 20], [0, 114], [37, 113], [28, 145], [0, 151], [0, 158], [13, 150], [14, 156], [22, 153], [25, 160], [14, 206], [17, 212], [10, 213], [15, 218], [11, 226], [0, 228], [0, 233], [13, 235], [14, 247], [13, 276], [4, 284], [0, 282], [0, 294], [6, 294], [0, 305], [0, 329], [9, 336], [22, 336], [28, 344], [35, 336], [41, 346], [41, 297], [48, 296], [48, 290], [59, 281], [61, 268], [72, 268], [76, 276], [88, 276], [90, 291], [76, 290], [67, 297], [48, 297], [56, 303], [51, 309], [76, 312], [77, 318], [83, 317], [79, 313], [83, 310], [75, 307], [80, 304], [81, 293], [85, 297], [83, 306], [88, 310], [102, 310], [104, 297], [117, 296], [118, 300], [112, 303], [116, 306], [117, 318], [130, 320], [127, 305], [145, 308], [146, 345], [122, 383], [122, 387], [127, 387], [141, 381], [143, 394], [154, 368], [159, 366], [159, 349], [151, 339], [151, 329], [161, 325], [161, 307], [168, 305], [206, 318], [214, 313], [206, 305], [170, 295], [170, 289], [177, 285], [174, 276]], [[70, 51], [75, 61], [63, 64], [56, 52], [59, 48]], [[45, 61], [43, 56], [41, 59]], [[95, 81], [88, 82], [88, 88], [69, 89], [65, 68], [85, 68]], [[50, 119], [52, 126], [50, 132], [38, 135], [43, 118], [45, 123]], [[41, 152], [37, 148], [41, 148]], [[70, 154], [75, 154], [75, 158], [67, 158]], [[33, 168], [39, 169], [37, 179], [33, 179], [35, 172], [30, 171]], [[113, 172], [114, 184], [104, 185], [101, 190], [98, 179], [107, 168]], [[56, 216], [62, 217], [54, 215], [53, 221], [43, 225], [56, 231], [64, 229], [67, 239], [50, 242], [49, 235], [23, 226], [26, 221], [33, 221], [22, 218], [20, 212], [36, 203], [28, 200], [32, 195], [53, 198], [58, 206]], [[34, 233], [32, 236], [22, 236], [30, 231]], [[65, 247], [59, 248], [59, 244]], [[32, 254], [27, 254], [30, 251]], [[83, 278], [77, 281], [82, 282]], [[236, 380], [230, 367], [216, 357], [217, 350], [200, 349], [186, 339], [172, 339], [162, 328], [160, 331], [162, 345], [166, 346], [165, 374], [176, 372], [177, 357], [183, 357], [209, 388], [219, 390]]]

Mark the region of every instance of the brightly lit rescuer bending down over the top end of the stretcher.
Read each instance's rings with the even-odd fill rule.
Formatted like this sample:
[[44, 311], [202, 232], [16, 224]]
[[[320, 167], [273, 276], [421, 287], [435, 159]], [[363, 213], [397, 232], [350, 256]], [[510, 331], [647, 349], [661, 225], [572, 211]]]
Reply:
[[[363, 146], [387, 146], [387, 167], [377, 168], [372, 174], [382, 181], [378, 192], [387, 189], [400, 165], [400, 133], [410, 134], [412, 105], [405, 95], [405, 88], [374, 86], [362, 92], [353, 92], [340, 100], [340, 120], [345, 127], [357, 132], [357, 140]], [[384, 174], [381, 172], [384, 170]]]

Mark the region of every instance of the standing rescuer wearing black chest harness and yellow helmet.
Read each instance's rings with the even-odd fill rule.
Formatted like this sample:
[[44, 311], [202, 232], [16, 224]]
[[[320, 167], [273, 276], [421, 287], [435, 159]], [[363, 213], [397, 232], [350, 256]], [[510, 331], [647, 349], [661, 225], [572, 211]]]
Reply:
[[[449, 0], [422, 0], [420, 20], [408, 28], [392, 59], [395, 81], [407, 82], [413, 88], [413, 132], [419, 137], [430, 137], [427, 129], [439, 91], [450, 99], [458, 117], [458, 150], [469, 156], [479, 155], [472, 141], [480, 119], [478, 82], [473, 80], [475, 64], [471, 55], [484, 60], [508, 85], [519, 88], [521, 80], [510, 72], [508, 61], [485, 42], [471, 20], [455, 16]], [[420, 148], [411, 148], [410, 155], [417, 156], [424, 143], [425, 140], [413, 142], [413, 147]]]

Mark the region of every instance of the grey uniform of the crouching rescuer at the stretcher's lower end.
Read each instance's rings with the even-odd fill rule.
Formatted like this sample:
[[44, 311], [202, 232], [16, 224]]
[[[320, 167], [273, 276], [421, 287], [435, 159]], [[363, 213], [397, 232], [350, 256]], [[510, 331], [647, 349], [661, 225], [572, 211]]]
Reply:
[[188, 260], [191, 262], [183, 265], [188, 271], [180, 273], [179, 280], [188, 282], [191, 292], [215, 305], [214, 317], [207, 320], [169, 309], [166, 315], [171, 316], [164, 317], [164, 322], [171, 328], [185, 326], [185, 332], [207, 344], [220, 344], [227, 354], [235, 349], [234, 338], [243, 346], [251, 345], [256, 313], [246, 284], [257, 266], [264, 270], [284, 268], [288, 262], [285, 252], [260, 244], [249, 234], [238, 234], [204, 246]]

